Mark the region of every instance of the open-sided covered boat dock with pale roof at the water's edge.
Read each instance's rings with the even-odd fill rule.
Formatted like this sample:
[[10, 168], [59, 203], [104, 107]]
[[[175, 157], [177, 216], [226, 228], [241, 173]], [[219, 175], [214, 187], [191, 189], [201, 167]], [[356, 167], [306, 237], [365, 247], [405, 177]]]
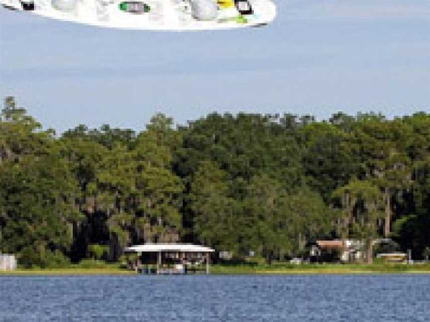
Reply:
[[[142, 273], [186, 274], [188, 271], [210, 273], [211, 253], [215, 250], [194, 244], [146, 243], [125, 247], [126, 254], [137, 254], [133, 268]], [[155, 266], [155, 267], [154, 267]], [[206, 266], [206, 269], [197, 268]]]

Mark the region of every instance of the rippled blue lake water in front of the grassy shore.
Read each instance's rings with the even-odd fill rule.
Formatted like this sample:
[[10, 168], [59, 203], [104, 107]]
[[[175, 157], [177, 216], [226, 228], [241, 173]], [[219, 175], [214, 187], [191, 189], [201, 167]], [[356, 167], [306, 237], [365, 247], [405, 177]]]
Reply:
[[3, 276], [0, 321], [428, 322], [430, 275]]

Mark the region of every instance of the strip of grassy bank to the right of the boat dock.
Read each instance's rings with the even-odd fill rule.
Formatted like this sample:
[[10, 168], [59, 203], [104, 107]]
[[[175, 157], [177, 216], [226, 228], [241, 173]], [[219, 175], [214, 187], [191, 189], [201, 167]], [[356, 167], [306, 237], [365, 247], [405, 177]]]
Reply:
[[274, 265], [213, 265], [213, 274], [369, 274], [423, 273], [430, 274], [430, 264], [274, 264]]

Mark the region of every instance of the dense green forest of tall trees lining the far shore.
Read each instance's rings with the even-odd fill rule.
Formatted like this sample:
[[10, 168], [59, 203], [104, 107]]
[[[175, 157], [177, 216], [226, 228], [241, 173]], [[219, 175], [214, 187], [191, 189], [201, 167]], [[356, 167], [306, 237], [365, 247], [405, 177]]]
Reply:
[[58, 136], [4, 100], [0, 251], [26, 266], [179, 241], [270, 262], [316, 239], [378, 237], [414, 258], [429, 249], [430, 114], [214, 113], [176, 128], [157, 114], [139, 133]]

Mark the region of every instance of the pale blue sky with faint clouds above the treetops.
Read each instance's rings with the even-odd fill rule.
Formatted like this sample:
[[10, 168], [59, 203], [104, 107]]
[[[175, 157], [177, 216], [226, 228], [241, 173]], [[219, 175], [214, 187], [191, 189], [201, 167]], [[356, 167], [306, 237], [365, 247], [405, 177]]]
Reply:
[[61, 133], [208, 113], [430, 113], [429, 0], [277, 0], [267, 27], [151, 32], [0, 8], [0, 96]]

